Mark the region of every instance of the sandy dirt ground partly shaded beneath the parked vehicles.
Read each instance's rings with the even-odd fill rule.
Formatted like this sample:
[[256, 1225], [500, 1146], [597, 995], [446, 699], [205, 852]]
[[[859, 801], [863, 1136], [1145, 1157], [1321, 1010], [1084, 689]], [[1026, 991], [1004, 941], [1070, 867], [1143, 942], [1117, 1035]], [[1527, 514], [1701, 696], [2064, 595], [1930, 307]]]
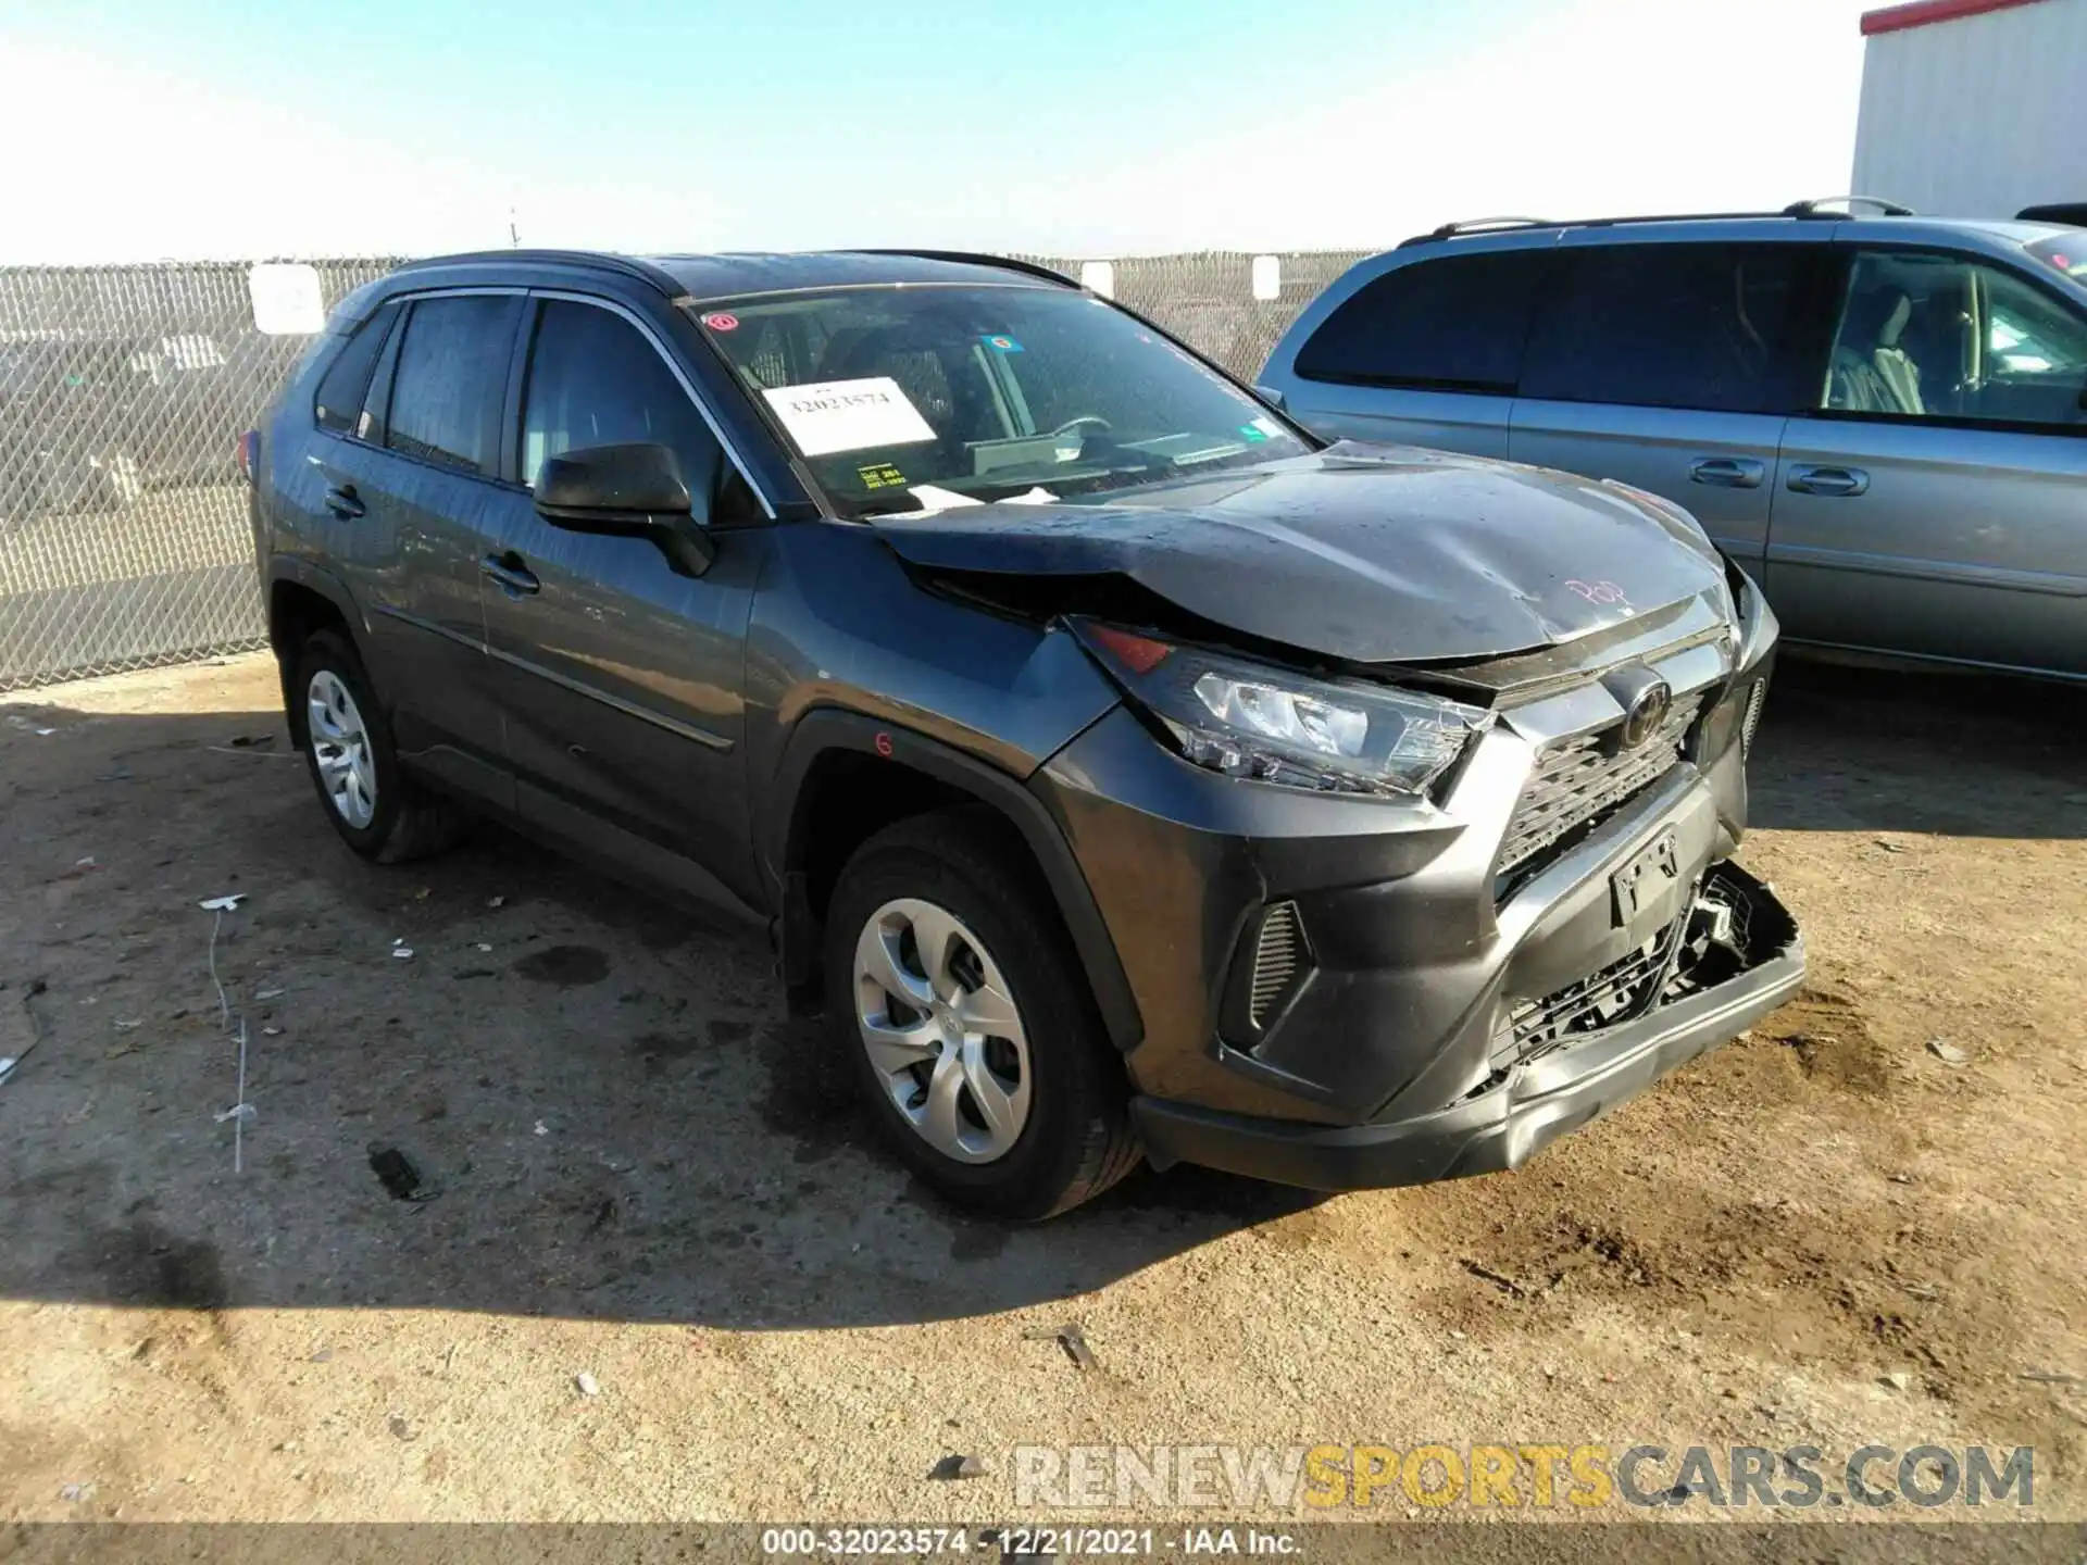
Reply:
[[2031, 1444], [2087, 1517], [2083, 718], [1786, 664], [1745, 862], [1797, 1004], [1519, 1175], [1002, 1229], [758, 939], [499, 833], [355, 860], [265, 659], [13, 697], [0, 1517], [966, 1519], [1018, 1444], [1423, 1440]]

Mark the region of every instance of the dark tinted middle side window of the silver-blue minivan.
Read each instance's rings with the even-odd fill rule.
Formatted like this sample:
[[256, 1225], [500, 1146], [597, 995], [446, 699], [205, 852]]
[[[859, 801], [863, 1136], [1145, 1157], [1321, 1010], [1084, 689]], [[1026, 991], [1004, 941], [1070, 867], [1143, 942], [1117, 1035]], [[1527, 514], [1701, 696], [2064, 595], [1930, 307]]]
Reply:
[[1521, 394], [1557, 403], [1793, 413], [1824, 334], [1812, 244], [1617, 244], [1561, 255]]

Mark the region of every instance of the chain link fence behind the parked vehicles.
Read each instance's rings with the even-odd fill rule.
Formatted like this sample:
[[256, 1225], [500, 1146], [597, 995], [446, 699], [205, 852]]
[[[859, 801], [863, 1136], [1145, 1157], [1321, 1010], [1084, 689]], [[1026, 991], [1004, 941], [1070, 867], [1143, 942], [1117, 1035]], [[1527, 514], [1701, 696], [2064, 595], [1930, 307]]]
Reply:
[[[1025, 259], [1244, 380], [1363, 255]], [[332, 309], [399, 263], [311, 265]], [[309, 342], [255, 328], [238, 263], [0, 267], [0, 691], [263, 645], [234, 442]]]

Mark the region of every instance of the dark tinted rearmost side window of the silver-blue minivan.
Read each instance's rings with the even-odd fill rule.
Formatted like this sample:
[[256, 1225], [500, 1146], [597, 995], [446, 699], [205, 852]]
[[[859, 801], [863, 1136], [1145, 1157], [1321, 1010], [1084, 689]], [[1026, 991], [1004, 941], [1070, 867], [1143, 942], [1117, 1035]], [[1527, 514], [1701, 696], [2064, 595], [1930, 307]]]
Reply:
[[1296, 374], [1357, 386], [1513, 394], [1551, 250], [1411, 261], [1363, 284], [1298, 348]]

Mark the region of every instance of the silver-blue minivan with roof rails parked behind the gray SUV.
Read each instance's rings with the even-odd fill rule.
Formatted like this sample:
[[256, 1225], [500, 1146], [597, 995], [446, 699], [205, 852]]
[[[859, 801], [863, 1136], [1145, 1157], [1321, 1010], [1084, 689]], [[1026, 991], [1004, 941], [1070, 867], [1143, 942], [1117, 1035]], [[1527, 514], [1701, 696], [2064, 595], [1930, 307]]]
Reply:
[[2087, 678], [2087, 230], [1450, 223], [1342, 275], [1261, 382], [1332, 438], [1663, 495], [1789, 641]]

